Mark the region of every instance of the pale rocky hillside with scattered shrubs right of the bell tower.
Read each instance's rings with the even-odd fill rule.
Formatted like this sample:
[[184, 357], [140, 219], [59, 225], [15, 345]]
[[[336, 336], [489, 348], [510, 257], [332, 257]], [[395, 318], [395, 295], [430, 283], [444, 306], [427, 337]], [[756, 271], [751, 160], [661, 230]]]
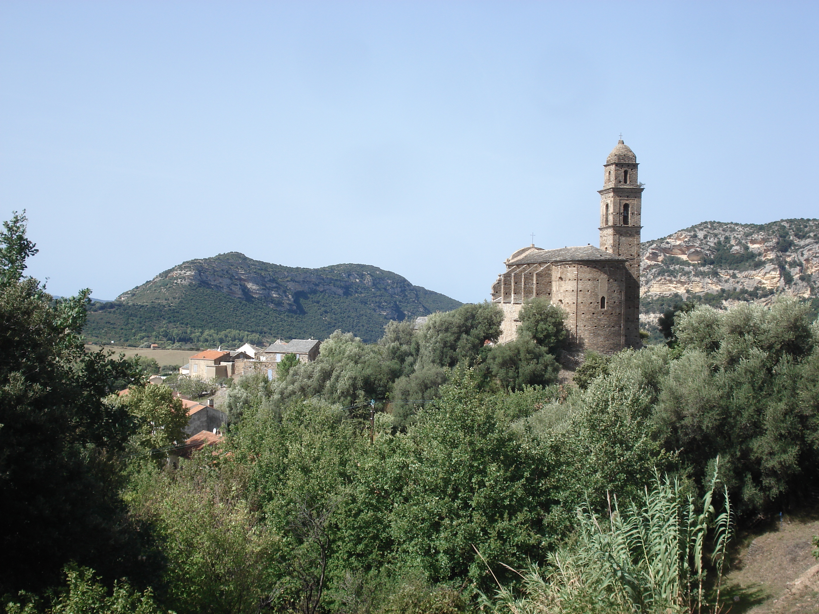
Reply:
[[640, 319], [668, 306], [769, 303], [776, 294], [817, 297], [819, 219], [765, 224], [703, 222], [640, 244]]

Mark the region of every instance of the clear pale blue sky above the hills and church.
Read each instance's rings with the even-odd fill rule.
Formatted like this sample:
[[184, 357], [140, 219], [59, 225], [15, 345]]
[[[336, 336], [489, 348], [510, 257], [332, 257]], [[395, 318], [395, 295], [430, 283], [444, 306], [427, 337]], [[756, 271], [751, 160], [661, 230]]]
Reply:
[[459, 300], [598, 242], [618, 133], [643, 239], [819, 217], [817, 2], [0, 3], [2, 219], [111, 299], [226, 251]]

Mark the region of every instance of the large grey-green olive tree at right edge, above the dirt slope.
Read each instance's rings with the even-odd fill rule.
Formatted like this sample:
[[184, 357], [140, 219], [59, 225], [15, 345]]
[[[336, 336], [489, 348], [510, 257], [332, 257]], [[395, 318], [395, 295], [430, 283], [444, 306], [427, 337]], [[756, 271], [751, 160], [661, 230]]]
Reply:
[[678, 316], [654, 422], [667, 449], [722, 479], [741, 512], [784, 504], [817, 480], [819, 352], [807, 305], [699, 307]]

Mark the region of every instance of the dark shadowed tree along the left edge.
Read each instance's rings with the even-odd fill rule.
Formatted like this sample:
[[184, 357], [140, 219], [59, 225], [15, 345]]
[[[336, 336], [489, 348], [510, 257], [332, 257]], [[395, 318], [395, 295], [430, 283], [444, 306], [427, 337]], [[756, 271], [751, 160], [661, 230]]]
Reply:
[[133, 421], [103, 400], [138, 375], [85, 351], [90, 291], [52, 300], [22, 275], [33, 253], [15, 215], [0, 235], [0, 593], [52, 584], [71, 559], [120, 573], [135, 558], [113, 456]]

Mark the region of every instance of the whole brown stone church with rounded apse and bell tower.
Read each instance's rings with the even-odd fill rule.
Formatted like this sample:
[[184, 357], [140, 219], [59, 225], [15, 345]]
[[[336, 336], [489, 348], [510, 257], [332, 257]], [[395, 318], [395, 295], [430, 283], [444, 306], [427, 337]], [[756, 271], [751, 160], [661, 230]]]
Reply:
[[640, 203], [637, 158], [618, 141], [603, 166], [600, 248], [544, 250], [534, 244], [514, 252], [492, 286], [504, 310], [501, 343], [513, 341], [523, 302], [542, 296], [568, 314], [573, 349], [613, 354], [640, 347]]

